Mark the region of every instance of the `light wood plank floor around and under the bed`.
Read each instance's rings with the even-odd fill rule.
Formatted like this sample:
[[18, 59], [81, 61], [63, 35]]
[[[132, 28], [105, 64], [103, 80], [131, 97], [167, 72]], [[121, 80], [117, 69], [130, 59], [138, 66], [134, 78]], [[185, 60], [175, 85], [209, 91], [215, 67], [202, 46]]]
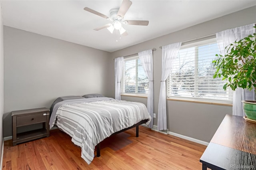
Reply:
[[80, 147], [75, 146], [71, 138], [58, 129], [51, 130], [48, 138], [17, 146], [12, 146], [12, 140], [7, 140], [4, 142], [2, 169], [202, 169], [199, 159], [206, 146], [142, 126], [136, 138], [135, 131], [135, 128], [127, 130], [125, 133], [128, 137], [120, 141], [121, 146], [117, 149], [114, 147], [117, 143], [115, 140], [108, 142], [109, 146], [102, 148], [101, 156], [95, 157], [90, 165], [80, 157]]

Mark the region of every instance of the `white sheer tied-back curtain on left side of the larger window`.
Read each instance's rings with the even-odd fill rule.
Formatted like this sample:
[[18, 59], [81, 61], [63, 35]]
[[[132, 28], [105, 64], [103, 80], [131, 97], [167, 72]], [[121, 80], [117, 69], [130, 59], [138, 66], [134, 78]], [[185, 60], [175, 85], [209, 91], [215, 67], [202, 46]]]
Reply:
[[162, 47], [162, 78], [158, 103], [158, 130], [167, 129], [166, 120], [166, 79], [172, 69], [172, 61], [177, 56], [181, 42]]

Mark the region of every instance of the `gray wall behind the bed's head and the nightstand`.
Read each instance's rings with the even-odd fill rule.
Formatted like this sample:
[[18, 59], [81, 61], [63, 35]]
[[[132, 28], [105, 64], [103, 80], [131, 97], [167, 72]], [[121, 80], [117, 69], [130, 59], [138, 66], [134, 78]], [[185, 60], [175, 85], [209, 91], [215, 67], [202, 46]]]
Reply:
[[11, 111], [50, 108], [66, 95], [108, 95], [109, 58], [106, 51], [4, 26], [4, 136], [12, 136]]

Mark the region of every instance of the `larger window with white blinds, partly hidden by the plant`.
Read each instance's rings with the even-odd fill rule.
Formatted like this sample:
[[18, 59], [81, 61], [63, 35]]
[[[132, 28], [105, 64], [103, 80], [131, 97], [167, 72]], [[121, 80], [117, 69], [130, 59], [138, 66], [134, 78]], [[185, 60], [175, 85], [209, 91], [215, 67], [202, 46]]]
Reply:
[[216, 39], [182, 45], [168, 77], [168, 97], [232, 101], [233, 91], [224, 91], [226, 81], [213, 79], [212, 61], [219, 54]]

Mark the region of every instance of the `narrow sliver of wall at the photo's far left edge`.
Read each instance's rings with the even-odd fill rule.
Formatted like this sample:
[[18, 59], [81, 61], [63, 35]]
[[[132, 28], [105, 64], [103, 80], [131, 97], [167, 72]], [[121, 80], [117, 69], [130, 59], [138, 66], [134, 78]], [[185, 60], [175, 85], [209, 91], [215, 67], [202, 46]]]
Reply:
[[[4, 26], [2, 20], [2, 8], [0, 2], [0, 155], [3, 144], [3, 114], [4, 114]], [[1, 158], [1, 157], [0, 157]]]

